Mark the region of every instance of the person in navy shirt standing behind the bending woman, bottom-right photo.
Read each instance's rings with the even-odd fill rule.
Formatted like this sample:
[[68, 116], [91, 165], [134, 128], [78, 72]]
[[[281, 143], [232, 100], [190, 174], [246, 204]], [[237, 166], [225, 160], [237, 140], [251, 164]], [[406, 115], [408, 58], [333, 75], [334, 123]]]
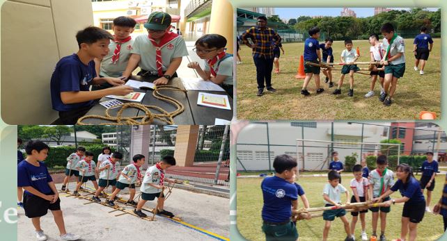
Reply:
[[433, 153], [429, 151], [426, 153], [427, 160], [422, 163], [422, 176], [421, 176], [421, 191], [424, 193], [424, 189], [427, 188], [427, 206], [425, 206], [425, 211], [431, 213], [430, 201], [432, 201], [432, 191], [434, 190], [434, 177], [438, 172], [438, 162], [433, 160]]

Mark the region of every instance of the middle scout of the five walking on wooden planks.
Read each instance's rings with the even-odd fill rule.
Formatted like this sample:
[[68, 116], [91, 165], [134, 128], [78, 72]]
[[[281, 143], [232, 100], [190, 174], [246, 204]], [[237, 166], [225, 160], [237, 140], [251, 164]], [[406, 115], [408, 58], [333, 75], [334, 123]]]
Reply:
[[92, 198], [94, 201], [101, 201], [98, 196], [100, 195], [102, 190], [104, 190], [104, 188], [107, 188], [109, 185], [112, 186], [112, 192], [115, 192], [116, 178], [120, 175], [120, 163], [118, 163], [118, 161], [122, 158], [123, 154], [119, 152], [113, 152], [109, 159], [101, 163], [99, 168], [100, 182], [98, 183], [100, 188], [96, 190], [95, 197]]

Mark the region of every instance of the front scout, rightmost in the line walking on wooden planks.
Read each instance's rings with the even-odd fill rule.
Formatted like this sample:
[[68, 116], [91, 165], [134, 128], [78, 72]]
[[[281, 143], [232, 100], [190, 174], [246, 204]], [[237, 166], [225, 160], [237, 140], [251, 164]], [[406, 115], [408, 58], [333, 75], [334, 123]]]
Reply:
[[152, 201], [155, 197], [157, 200], [157, 208], [154, 211], [161, 215], [174, 217], [173, 213], [164, 210], [164, 181], [174, 183], [173, 180], [164, 177], [164, 170], [171, 166], [175, 166], [175, 158], [173, 156], [165, 156], [159, 163], [149, 167], [144, 174], [143, 182], [141, 183], [141, 199], [134, 210], [136, 215], [146, 217], [147, 215], [141, 211], [146, 201]]

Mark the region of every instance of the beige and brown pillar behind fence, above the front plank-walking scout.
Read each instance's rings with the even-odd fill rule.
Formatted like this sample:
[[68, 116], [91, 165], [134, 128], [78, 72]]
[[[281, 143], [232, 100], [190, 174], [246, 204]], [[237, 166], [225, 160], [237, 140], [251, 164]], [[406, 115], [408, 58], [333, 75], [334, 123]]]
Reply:
[[175, 138], [174, 158], [178, 167], [192, 167], [196, 156], [198, 126], [180, 125]]

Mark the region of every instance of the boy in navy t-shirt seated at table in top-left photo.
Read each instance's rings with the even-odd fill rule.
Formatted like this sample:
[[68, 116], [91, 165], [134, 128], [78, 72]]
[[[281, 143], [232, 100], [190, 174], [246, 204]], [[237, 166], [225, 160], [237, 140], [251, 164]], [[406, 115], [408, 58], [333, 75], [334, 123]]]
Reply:
[[[100, 78], [95, 71], [95, 58], [109, 53], [112, 35], [90, 26], [76, 35], [79, 51], [59, 60], [50, 83], [53, 109], [59, 112], [57, 124], [76, 124], [93, 106], [93, 100], [107, 95], [126, 95], [132, 87], [123, 85], [120, 78]], [[105, 90], [90, 91], [90, 85], [107, 82], [116, 85]]]

